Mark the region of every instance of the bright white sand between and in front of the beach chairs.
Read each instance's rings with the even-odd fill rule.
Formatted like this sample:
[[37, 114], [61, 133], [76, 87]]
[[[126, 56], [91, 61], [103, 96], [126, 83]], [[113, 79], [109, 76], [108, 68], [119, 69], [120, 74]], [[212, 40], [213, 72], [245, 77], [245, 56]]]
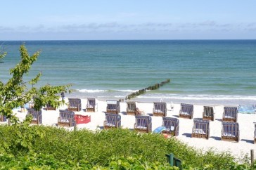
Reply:
[[[68, 99], [66, 99], [68, 101]], [[96, 100], [98, 105], [97, 112], [84, 112], [87, 105], [87, 100], [82, 99], [82, 111], [75, 112], [78, 115], [90, 115], [91, 122], [88, 124], [77, 124], [77, 129], [90, 129], [96, 130], [97, 128], [103, 126], [105, 120], [105, 110], [106, 102]], [[123, 128], [134, 129], [135, 118], [133, 115], [126, 115], [126, 103], [120, 103], [120, 113], [121, 115], [121, 126]], [[143, 110], [146, 115], [152, 115], [153, 103], [136, 103], [136, 107], [139, 110]], [[238, 114], [238, 123], [240, 127], [240, 141], [230, 142], [220, 140], [222, 131], [222, 113], [223, 105], [215, 105], [215, 121], [210, 122], [210, 138], [191, 138], [191, 132], [193, 127], [193, 119], [179, 119], [179, 136], [176, 138], [187, 143], [188, 145], [194, 146], [196, 148], [202, 148], [207, 150], [209, 148], [214, 148], [215, 151], [230, 151], [234, 156], [241, 157], [245, 154], [250, 155], [250, 150], [254, 149], [256, 151], [256, 144], [253, 144], [254, 137], [254, 122], [256, 122], [255, 114]], [[58, 109], [66, 109], [67, 105], [63, 105]], [[178, 117], [180, 110], [180, 104], [174, 104], [174, 110], [170, 111], [170, 103], [167, 103], [167, 117]], [[26, 113], [18, 112], [15, 110], [17, 116], [22, 120], [25, 118]], [[202, 118], [203, 105], [194, 105], [193, 118]], [[58, 122], [58, 110], [43, 110], [42, 111], [42, 123], [48, 126], [56, 126]], [[162, 126], [162, 117], [152, 117], [152, 129], [154, 130], [158, 126]], [[73, 128], [68, 128], [72, 130]]]

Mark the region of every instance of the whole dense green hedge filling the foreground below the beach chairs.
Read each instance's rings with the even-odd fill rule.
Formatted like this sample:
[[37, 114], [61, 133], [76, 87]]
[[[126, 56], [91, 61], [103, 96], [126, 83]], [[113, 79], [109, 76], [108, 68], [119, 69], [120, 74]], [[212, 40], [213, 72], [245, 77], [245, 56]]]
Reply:
[[165, 157], [170, 152], [184, 169], [250, 169], [229, 153], [203, 153], [175, 138], [128, 129], [66, 131], [23, 123], [0, 126], [0, 133], [0, 169], [172, 169]]

